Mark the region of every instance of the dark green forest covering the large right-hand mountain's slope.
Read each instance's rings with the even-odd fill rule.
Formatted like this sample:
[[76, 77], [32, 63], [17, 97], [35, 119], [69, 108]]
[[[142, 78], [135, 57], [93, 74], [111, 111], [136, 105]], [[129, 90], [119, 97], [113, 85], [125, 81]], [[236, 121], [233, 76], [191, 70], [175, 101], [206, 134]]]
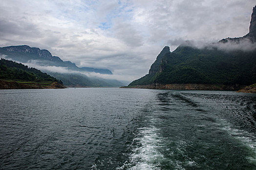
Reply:
[[[252, 85], [256, 82], [256, 51], [220, 51], [179, 46], [166, 52], [157, 72], [150, 72], [130, 85], [222, 84]], [[152, 67], [151, 67], [152, 68]], [[150, 68], [150, 69], [151, 69]]]

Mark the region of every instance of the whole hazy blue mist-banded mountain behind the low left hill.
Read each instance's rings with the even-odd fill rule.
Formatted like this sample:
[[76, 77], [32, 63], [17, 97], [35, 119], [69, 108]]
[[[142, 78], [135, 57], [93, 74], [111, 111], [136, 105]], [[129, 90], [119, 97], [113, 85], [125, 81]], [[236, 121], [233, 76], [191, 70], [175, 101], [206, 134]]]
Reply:
[[26, 45], [22, 46], [9, 46], [0, 48], [0, 57], [7, 58], [14, 61], [19, 61], [21, 63], [31, 63], [32, 61], [39, 66], [41, 69], [54, 66], [62, 68], [65, 73], [60, 73], [57, 71], [49, 71], [47, 69], [42, 69], [51, 76], [61, 79], [66, 86], [79, 86], [79, 87], [119, 87], [122, 85], [127, 85], [124, 82], [120, 82], [112, 79], [103, 79], [98, 77], [88, 77], [83, 73], [100, 73], [100, 74], [112, 74], [108, 69], [99, 68], [79, 68], [76, 64], [70, 61], [63, 61], [58, 56], [52, 56], [52, 54], [47, 50], [40, 50], [39, 48], [29, 47]]

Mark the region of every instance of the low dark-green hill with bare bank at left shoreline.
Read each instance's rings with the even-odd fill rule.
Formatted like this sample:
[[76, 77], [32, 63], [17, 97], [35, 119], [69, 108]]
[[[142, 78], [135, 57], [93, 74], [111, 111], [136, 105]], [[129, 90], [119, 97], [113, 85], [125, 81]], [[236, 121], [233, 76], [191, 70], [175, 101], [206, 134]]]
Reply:
[[0, 59], [0, 89], [9, 88], [65, 88], [61, 80], [28, 68], [21, 63]]

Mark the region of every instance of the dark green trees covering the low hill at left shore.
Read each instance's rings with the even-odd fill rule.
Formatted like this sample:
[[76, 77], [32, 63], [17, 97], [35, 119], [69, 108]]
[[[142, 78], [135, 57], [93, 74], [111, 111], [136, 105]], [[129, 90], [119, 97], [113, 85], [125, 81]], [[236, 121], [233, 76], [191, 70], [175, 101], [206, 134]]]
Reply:
[[25, 84], [37, 82], [43, 86], [50, 85], [52, 82], [63, 84], [61, 80], [57, 80], [36, 68], [28, 68], [21, 63], [5, 59], [0, 60], [0, 79]]

